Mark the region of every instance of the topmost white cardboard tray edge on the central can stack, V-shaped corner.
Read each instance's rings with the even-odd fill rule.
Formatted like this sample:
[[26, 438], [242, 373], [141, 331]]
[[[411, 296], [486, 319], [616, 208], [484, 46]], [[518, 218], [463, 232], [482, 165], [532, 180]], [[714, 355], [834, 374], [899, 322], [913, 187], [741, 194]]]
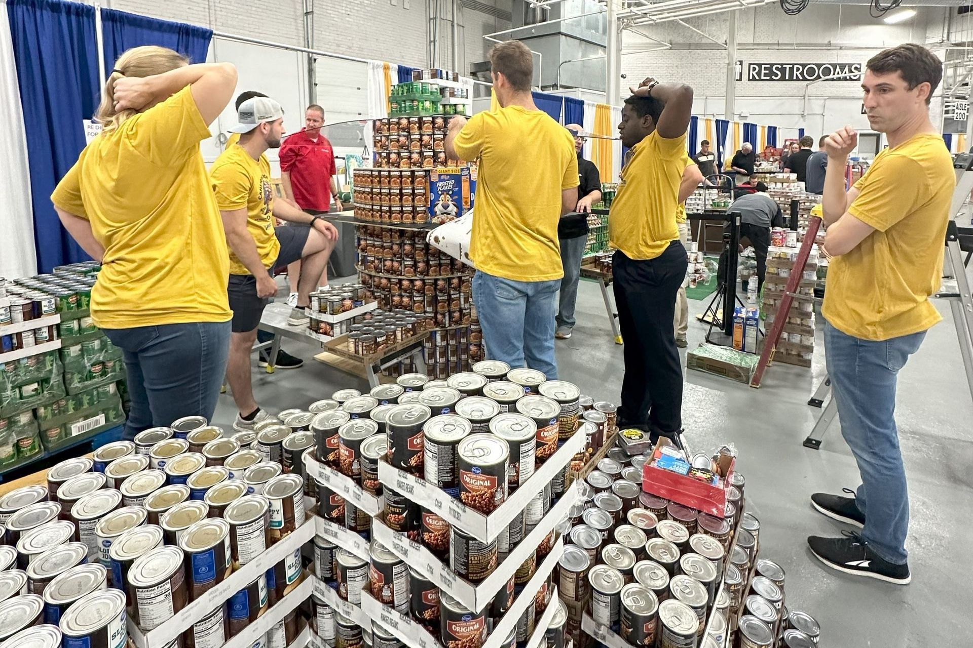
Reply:
[[585, 431], [579, 427], [514, 495], [510, 495], [507, 501], [489, 515], [466, 506], [458, 497], [453, 497], [421, 477], [399, 470], [385, 461], [378, 461], [378, 481], [398, 493], [409, 495], [415, 502], [446, 520], [450, 526], [463, 529], [478, 540], [489, 542], [510, 525], [534, 495], [540, 493], [555, 474], [584, 449], [586, 443]]

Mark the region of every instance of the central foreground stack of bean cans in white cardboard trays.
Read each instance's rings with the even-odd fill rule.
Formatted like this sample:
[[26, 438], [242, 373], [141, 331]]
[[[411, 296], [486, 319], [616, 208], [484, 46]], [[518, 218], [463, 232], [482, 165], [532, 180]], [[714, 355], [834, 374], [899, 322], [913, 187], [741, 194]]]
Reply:
[[[450, 526], [411, 495], [383, 485], [378, 479], [379, 462], [423, 478], [466, 506], [489, 514], [550, 459], [579, 425], [586, 429], [590, 446], [600, 443], [606, 430], [610, 436], [614, 429], [607, 417], [597, 412], [600, 419], [592, 417], [597, 423], [584, 420], [583, 404], [594, 410], [592, 398], [583, 396], [570, 383], [547, 381], [538, 371], [511, 369], [506, 363], [486, 360], [475, 364], [472, 372], [454, 374], [446, 380], [412, 374], [401, 376], [395, 384], [378, 386], [367, 395], [357, 390], [335, 392], [332, 398], [310, 406], [314, 413], [310, 430], [316, 460], [352, 478], [365, 492], [383, 496], [382, 524], [424, 545], [456, 575], [480, 583], [540, 523], [552, 501], [565, 492], [567, 466], [507, 529], [485, 542]], [[614, 411], [607, 403], [600, 405]], [[591, 455], [587, 450], [585, 454]], [[317, 484], [317, 495], [322, 518], [371, 537], [372, 519], [366, 512], [323, 482]], [[537, 564], [551, 551], [557, 533], [566, 530], [561, 527], [549, 533], [483, 610], [469, 610], [441, 593], [375, 539], [371, 560], [364, 561], [317, 537], [315, 566], [318, 577], [336, 587], [340, 597], [360, 604], [360, 592], [368, 587], [379, 602], [411, 615], [416, 623], [439, 636], [444, 646], [479, 648], [534, 575]], [[535, 604], [524, 611], [509, 637], [510, 645], [525, 641], [534, 631], [535, 619], [550, 603], [551, 593], [549, 579]], [[317, 631], [326, 641], [350, 646], [362, 640], [363, 631], [367, 636], [367, 629], [336, 615], [324, 600], [315, 599], [314, 605]], [[555, 619], [562, 637], [566, 616], [561, 612]]]

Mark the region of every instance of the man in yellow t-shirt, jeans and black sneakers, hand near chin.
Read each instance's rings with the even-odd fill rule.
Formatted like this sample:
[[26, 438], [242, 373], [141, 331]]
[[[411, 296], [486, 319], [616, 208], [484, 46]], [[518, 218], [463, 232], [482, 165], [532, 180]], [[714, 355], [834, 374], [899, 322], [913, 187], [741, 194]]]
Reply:
[[941, 319], [929, 295], [939, 290], [955, 188], [953, 160], [929, 120], [942, 65], [913, 44], [869, 59], [865, 111], [888, 148], [847, 192], [847, 156], [858, 134], [846, 126], [824, 145], [824, 252], [832, 257], [821, 311], [824, 348], [861, 486], [852, 497], [815, 493], [811, 504], [862, 531], [811, 536], [808, 544], [830, 567], [902, 585], [911, 579], [909, 495], [894, 417], [896, 377]]

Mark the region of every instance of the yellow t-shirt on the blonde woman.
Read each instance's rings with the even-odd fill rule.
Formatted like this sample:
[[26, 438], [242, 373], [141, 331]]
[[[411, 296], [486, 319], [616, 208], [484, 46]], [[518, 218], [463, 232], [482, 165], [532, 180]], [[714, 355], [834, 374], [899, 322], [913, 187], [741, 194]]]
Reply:
[[85, 147], [51, 200], [105, 248], [91, 290], [103, 328], [226, 322], [227, 241], [199, 142], [211, 137], [189, 86]]

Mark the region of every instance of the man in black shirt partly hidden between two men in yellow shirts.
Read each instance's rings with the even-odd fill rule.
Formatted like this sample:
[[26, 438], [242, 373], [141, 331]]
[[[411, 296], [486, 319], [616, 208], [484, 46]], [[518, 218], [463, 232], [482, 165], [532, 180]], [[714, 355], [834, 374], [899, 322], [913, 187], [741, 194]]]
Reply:
[[564, 268], [564, 278], [560, 280], [558, 315], [555, 322], [558, 329], [554, 336], [559, 340], [571, 337], [574, 328], [574, 302], [578, 297], [578, 279], [581, 275], [581, 257], [588, 245], [588, 214], [592, 205], [601, 200], [601, 178], [598, 167], [581, 154], [588, 138], [576, 123], [566, 126], [574, 135], [574, 150], [578, 152], [578, 205], [573, 214], [560, 217], [558, 238], [560, 240], [560, 263]]

